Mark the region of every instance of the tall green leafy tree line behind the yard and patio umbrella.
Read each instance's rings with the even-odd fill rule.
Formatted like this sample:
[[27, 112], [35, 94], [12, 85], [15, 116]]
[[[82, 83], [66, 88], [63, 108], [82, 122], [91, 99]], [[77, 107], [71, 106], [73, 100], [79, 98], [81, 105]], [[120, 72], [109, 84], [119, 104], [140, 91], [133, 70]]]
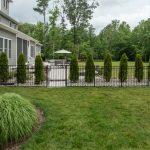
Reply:
[[[133, 30], [125, 21], [113, 20], [99, 34], [89, 23], [98, 3], [93, 0], [58, 1], [48, 10], [49, 0], [37, 0], [35, 11], [43, 15], [44, 21], [37, 24], [21, 23], [19, 30], [39, 40], [43, 44], [45, 58], [54, 57], [54, 52], [67, 49], [84, 60], [87, 53], [94, 59], [103, 60], [110, 53], [113, 60], [120, 60], [126, 53], [129, 61], [141, 54], [144, 61], [150, 56], [150, 19], [142, 20]], [[45, 13], [49, 14], [46, 21]], [[70, 28], [68, 28], [68, 22]], [[55, 56], [58, 57], [58, 56]]]

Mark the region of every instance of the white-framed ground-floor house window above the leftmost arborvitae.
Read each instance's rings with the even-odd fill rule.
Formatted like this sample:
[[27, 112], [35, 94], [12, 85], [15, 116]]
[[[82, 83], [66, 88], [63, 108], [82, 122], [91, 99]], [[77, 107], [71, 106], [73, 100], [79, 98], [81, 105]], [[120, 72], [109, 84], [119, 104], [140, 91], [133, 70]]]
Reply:
[[5, 52], [11, 58], [11, 40], [0, 37], [0, 52]]

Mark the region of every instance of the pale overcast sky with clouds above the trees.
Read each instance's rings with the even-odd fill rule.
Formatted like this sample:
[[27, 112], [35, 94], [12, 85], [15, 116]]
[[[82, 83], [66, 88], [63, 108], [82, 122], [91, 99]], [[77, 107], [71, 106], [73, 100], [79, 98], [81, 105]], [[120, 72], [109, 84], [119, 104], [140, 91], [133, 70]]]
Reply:
[[[36, 23], [42, 20], [42, 16], [33, 11], [35, 6], [36, 0], [14, 0], [10, 6], [10, 15], [19, 22]], [[99, 33], [113, 19], [126, 21], [133, 28], [139, 21], [148, 18], [150, 0], [100, 0], [91, 23]]]

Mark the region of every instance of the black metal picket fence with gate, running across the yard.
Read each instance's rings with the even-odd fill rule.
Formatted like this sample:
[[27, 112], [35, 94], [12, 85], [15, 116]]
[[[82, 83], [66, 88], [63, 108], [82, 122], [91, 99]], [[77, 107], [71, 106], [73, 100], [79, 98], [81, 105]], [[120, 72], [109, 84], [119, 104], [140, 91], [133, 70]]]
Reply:
[[9, 66], [7, 78], [4, 77], [3, 66], [0, 67], [0, 86], [42, 86], [42, 87], [128, 87], [128, 86], [149, 86], [150, 67], [143, 68], [143, 76], [139, 81], [135, 77], [135, 67], [130, 66], [127, 70], [127, 79], [122, 81], [119, 78], [120, 68], [112, 67], [111, 79], [109, 82], [104, 77], [104, 67], [95, 66], [95, 75], [92, 82], [85, 81], [85, 67], [79, 67], [79, 80], [70, 80], [70, 66], [46, 66], [44, 67], [44, 80], [39, 84], [35, 83], [35, 68], [26, 66], [26, 80], [24, 83], [17, 82], [17, 66]]

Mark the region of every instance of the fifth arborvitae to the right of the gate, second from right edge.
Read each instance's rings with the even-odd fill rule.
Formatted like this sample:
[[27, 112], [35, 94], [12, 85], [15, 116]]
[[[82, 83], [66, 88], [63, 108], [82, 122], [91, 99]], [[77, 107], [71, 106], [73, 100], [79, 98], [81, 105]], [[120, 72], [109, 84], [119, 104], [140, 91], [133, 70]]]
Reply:
[[138, 82], [141, 82], [143, 80], [143, 62], [142, 62], [142, 56], [140, 54], [136, 55], [135, 59], [135, 78], [138, 80]]

